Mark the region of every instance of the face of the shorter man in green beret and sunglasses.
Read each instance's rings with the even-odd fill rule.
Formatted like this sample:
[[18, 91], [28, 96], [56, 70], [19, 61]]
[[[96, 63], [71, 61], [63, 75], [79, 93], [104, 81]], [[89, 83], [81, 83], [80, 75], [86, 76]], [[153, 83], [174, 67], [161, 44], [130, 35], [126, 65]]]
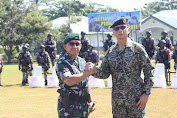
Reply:
[[71, 40], [70, 42], [68, 42], [67, 44], [64, 44], [63, 46], [64, 46], [64, 49], [67, 51], [67, 53], [71, 57], [77, 57], [82, 47], [82, 44], [81, 44], [81, 41], [79, 40]]

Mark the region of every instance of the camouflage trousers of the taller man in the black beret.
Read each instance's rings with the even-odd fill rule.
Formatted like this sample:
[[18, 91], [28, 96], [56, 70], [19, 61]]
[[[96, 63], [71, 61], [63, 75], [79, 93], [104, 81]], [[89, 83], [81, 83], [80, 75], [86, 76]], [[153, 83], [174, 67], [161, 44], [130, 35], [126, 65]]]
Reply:
[[138, 110], [137, 106], [117, 105], [113, 118], [146, 118], [146, 110]]

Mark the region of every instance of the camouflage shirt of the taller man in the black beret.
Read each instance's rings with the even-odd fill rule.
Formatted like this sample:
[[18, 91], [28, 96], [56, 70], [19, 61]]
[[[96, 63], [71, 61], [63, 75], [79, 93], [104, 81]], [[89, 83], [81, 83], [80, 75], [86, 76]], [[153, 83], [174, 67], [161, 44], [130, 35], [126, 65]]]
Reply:
[[[144, 79], [141, 72], [144, 72]], [[112, 75], [112, 106], [135, 105], [143, 91], [151, 91], [153, 70], [150, 59], [141, 44], [127, 40], [123, 49], [112, 46], [105, 55], [96, 78], [106, 79]]]

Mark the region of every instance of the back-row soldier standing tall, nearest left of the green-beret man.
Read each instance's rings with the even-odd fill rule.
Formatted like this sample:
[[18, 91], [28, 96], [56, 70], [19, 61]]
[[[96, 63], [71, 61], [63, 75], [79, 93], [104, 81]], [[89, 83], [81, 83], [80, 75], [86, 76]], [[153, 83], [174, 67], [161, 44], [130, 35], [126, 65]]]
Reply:
[[47, 41], [45, 42], [45, 49], [48, 52], [52, 66], [55, 65], [55, 58], [56, 58], [56, 41], [52, 40], [52, 33], [47, 35]]

